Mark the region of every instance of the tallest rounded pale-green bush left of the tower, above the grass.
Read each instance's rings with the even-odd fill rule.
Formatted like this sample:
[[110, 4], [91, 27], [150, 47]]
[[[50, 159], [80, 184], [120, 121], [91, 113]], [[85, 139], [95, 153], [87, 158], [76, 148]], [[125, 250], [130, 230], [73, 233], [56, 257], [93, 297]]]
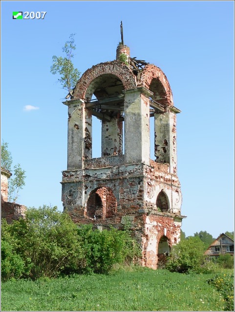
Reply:
[[63, 270], [74, 270], [82, 260], [77, 226], [57, 207], [28, 208], [25, 219], [11, 225], [11, 234], [26, 278], [55, 277]]

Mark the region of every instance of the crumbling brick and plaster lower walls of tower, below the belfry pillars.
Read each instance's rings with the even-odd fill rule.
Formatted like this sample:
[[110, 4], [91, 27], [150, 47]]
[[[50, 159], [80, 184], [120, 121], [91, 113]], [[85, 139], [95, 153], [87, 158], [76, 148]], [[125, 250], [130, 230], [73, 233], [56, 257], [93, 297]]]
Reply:
[[[110, 157], [110, 163], [100, 157], [87, 160], [83, 170], [63, 172], [64, 209], [75, 223], [92, 223], [99, 228], [112, 225], [121, 229], [128, 217], [142, 246], [141, 265], [156, 269], [164, 263], [171, 246], [180, 237], [181, 198], [172, 202], [175, 194], [181, 194], [178, 178], [168, 172], [168, 164], [151, 161], [150, 166], [110, 166], [112, 159], [116, 164], [118, 158], [114, 156]], [[107, 164], [109, 166], [105, 166]], [[157, 209], [159, 196], [163, 196], [163, 205], [166, 201], [168, 204], [162, 211]], [[167, 237], [167, 243], [163, 242], [159, 254], [163, 236]]]

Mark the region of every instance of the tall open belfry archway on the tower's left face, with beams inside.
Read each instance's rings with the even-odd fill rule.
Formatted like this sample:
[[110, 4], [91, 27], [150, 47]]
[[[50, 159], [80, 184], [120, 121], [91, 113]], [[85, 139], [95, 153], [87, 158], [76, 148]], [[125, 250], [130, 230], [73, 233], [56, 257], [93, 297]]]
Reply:
[[[85, 106], [92, 114], [92, 146], [97, 153], [97, 132], [101, 133], [101, 156], [123, 155], [124, 137], [124, 86], [122, 81], [112, 75], [104, 74], [95, 78], [86, 90]], [[101, 121], [101, 130], [97, 120]], [[94, 127], [97, 126], [98, 129]], [[100, 149], [99, 149], [100, 150]]]

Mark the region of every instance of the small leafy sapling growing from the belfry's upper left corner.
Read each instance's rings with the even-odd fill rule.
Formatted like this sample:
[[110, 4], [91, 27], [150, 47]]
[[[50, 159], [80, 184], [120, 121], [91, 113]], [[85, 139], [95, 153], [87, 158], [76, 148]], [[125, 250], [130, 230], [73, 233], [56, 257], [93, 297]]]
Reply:
[[78, 69], [74, 68], [72, 59], [74, 57], [73, 51], [76, 50], [76, 45], [74, 44], [74, 35], [69, 36], [69, 40], [65, 42], [62, 51], [65, 53], [65, 57], [52, 57], [51, 73], [53, 75], [59, 74], [60, 78], [58, 81], [61, 83], [62, 88], [67, 90], [70, 95], [71, 90], [75, 87], [79, 77], [80, 72]]

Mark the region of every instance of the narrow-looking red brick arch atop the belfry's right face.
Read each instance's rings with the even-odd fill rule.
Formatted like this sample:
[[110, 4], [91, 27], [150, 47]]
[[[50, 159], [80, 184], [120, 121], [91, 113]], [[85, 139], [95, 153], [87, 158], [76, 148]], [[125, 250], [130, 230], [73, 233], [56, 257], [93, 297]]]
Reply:
[[147, 65], [141, 73], [142, 85], [153, 92], [153, 99], [159, 101], [164, 106], [173, 106], [173, 96], [171, 87], [163, 71], [153, 65]]

